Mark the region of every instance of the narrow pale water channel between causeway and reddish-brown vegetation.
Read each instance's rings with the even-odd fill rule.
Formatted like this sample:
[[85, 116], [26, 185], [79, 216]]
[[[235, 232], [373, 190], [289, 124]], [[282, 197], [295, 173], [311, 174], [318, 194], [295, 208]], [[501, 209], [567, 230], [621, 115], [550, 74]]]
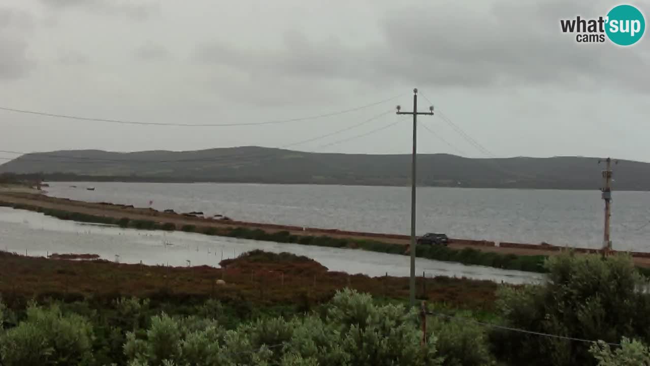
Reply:
[[[300, 246], [219, 238], [186, 232], [138, 231], [106, 225], [62, 221], [36, 212], [0, 207], [0, 249], [32, 256], [47, 253], [94, 253], [125, 263], [218, 266], [244, 251], [287, 251], [313, 258], [333, 271], [380, 276], [409, 275], [409, 257], [354, 249]], [[116, 257], [119, 255], [119, 257]], [[489, 279], [508, 283], [534, 282], [539, 274], [417, 259], [417, 274]]]

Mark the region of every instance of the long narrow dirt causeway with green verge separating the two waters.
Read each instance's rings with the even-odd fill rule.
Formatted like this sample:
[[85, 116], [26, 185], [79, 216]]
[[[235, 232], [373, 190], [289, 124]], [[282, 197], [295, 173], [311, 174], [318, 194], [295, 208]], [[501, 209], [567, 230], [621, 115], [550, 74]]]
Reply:
[[[153, 210], [153, 208], [135, 208], [130, 205], [112, 203], [89, 203], [41, 193], [27, 193], [0, 190], [0, 205], [24, 208], [43, 212], [49, 216], [74, 221], [113, 223], [135, 229], [162, 229], [168, 231], [200, 232], [209, 235], [233, 236], [253, 240], [272, 242], [293, 242], [296, 244], [316, 246], [352, 247], [384, 253], [408, 255], [410, 236], [402, 234], [381, 234], [376, 232], [342, 231], [338, 229], [302, 228], [291, 225], [270, 223], [253, 223], [248, 221], [221, 220], [196, 216], [184, 216]], [[480, 264], [496, 268], [543, 272], [536, 264], [545, 257], [556, 255], [563, 249], [573, 249], [578, 253], [599, 253], [595, 249], [567, 248], [548, 244], [523, 244], [512, 242], [495, 242], [488, 240], [464, 240], [450, 238], [447, 247], [418, 246], [417, 256], [463, 264]], [[460, 255], [463, 253], [463, 255]], [[476, 257], [476, 253], [491, 260], [465, 259]], [[626, 252], [632, 255], [637, 266], [650, 267], [650, 253]], [[492, 258], [494, 257], [494, 258]], [[515, 268], [504, 267], [508, 261], [521, 259], [530, 262], [526, 265], [508, 264]], [[486, 262], [487, 264], [483, 264]], [[535, 262], [536, 264], [534, 265]], [[525, 268], [516, 268], [517, 266]]]

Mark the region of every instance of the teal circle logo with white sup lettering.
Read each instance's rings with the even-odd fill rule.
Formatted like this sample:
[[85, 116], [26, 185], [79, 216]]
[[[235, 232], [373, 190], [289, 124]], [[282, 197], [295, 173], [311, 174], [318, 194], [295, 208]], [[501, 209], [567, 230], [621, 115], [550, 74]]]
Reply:
[[638, 42], [645, 31], [645, 18], [632, 5], [618, 5], [607, 13], [605, 33], [619, 46], [630, 46]]

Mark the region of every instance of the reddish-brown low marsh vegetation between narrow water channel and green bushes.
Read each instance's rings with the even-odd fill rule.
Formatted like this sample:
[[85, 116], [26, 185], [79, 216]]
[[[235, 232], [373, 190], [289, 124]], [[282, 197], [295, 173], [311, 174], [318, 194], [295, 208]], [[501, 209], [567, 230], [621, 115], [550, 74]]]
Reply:
[[[14, 305], [31, 298], [74, 300], [149, 297], [165, 301], [216, 298], [224, 302], [320, 303], [344, 287], [386, 298], [408, 298], [408, 277], [368, 277], [328, 272], [318, 262], [282, 255], [243, 256], [226, 268], [118, 264], [105, 260], [49, 260], [0, 252], [0, 294]], [[222, 279], [225, 284], [218, 284]], [[489, 309], [497, 285], [435, 277], [417, 279], [418, 296], [452, 307]]]

